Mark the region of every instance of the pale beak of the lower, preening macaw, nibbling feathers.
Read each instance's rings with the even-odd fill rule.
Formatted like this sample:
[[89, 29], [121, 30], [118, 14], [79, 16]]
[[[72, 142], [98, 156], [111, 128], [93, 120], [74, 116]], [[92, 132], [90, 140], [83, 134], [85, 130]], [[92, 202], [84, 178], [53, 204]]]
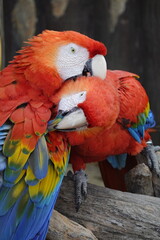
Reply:
[[74, 107], [69, 111], [60, 110], [55, 119], [48, 122], [48, 131], [75, 131], [86, 128], [87, 119], [81, 108]]

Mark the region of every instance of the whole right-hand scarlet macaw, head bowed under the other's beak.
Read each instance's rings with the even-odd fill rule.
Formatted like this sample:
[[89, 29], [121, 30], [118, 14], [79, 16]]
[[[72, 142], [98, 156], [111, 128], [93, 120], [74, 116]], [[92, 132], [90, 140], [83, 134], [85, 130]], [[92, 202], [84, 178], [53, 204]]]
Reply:
[[[59, 102], [59, 113], [49, 122], [49, 129], [67, 131], [66, 137], [73, 146], [70, 161], [75, 181], [81, 180], [76, 189], [77, 209], [82, 200], [81, 189], [86, 195], [86, 163], [108, 158], [114, 167], [122, 168], [127, 154], [136, 155], [147, 146], [150, 136], [146, 129], [155, 122], [148, 96], [137, 77], [108, 70], [105, 80], [81, 77], [66, 82], [53, 98]], [[150, 157], [149, 163], [159, 172], [157, 159]]]

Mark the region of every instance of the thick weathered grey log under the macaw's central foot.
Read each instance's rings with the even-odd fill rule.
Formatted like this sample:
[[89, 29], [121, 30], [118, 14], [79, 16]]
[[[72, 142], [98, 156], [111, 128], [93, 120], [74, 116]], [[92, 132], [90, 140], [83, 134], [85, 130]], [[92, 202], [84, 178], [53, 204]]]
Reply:
[[74, 184], [66, 177], [56, 210], [91, 230], [99, 240], [160, 239], [160, 199], [156, 197], [88, 184], [87, 200], [76, 213]]

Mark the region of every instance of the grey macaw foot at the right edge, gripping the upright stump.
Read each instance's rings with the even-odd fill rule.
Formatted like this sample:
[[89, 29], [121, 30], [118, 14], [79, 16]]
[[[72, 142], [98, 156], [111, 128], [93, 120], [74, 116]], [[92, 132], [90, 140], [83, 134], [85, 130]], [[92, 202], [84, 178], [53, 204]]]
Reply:
[[149, 141], [142, 154], [146, 157], [149, 168], [160, 177], [160, 162], [156, 154], [158, 151], [160, 151], [160, 146], [154, 146], [152, 141]]

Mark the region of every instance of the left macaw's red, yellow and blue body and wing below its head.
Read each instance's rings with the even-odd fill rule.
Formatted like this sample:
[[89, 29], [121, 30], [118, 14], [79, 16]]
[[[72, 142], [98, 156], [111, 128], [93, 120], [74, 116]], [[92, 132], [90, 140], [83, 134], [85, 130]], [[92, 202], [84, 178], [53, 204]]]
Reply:
[[[65, 168], [69, 148], [65, 141], [60, 148], [55, 143], [56, 164], [54, 157], [49, 160], [44, 134], [52, 103], [12, 68], [0, 73], [0, 236], [42, 240], [64, 173], [56, 161], [62, 159]], [[11, 126], [8, 134], [6, 123]]]

